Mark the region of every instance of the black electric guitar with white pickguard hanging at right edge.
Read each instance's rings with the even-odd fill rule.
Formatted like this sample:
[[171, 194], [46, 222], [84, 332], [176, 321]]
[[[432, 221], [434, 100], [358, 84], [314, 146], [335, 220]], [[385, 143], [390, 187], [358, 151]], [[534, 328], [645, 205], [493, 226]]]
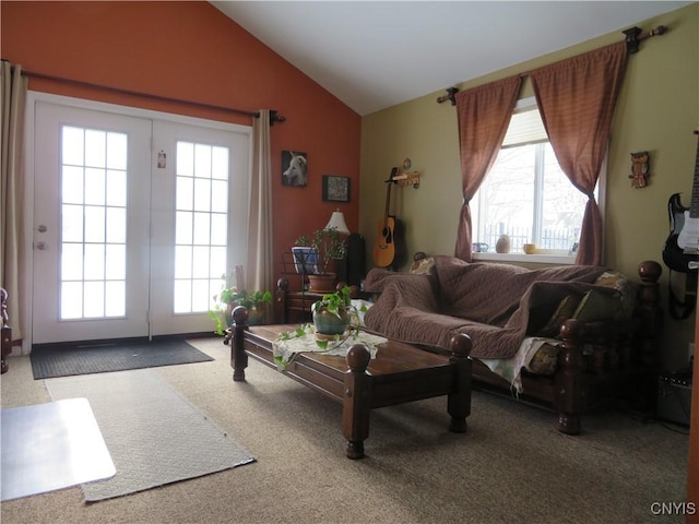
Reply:
[[663, 246], [663, 261], [671, 270], [689, 273], [694, 271], [689, 262], [699, 260], [699, 142], [689, 207], [682, 205], [679, 193], [675, 193], [667, 202], [667, 212], [671, 233]]

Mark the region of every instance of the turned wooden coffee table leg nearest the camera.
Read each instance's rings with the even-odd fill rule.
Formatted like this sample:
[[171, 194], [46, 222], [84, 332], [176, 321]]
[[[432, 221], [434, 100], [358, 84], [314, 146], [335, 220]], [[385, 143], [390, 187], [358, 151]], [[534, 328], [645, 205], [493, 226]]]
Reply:
[[367, 366], [371, 355], [364, 344], [355, 344], [347, 350], [345, 395], [342, 402], [342, 434], [347, 439], [348, 458], [364, 457], [364, 441], [369, 437], [369, 410], [371, 407], [371, 377]]

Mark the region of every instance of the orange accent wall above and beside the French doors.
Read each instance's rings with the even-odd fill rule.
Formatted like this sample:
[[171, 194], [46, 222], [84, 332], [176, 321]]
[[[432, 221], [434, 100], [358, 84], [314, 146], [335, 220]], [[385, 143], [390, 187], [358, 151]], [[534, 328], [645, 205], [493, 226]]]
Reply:
[[[357, 230], [360, 117], [209, 2], [1, 2], [2, 58], [29, 72], [286, 117], [271, 130], [275, 275], [281, 252], [335, 207]], [[250, 124], [225, 111], [29, 79], [29, 88]], [[282, 151], [308, 154], [308, 186], [282, 186]], [[350, 177], [348, 203], [322, 175]]]

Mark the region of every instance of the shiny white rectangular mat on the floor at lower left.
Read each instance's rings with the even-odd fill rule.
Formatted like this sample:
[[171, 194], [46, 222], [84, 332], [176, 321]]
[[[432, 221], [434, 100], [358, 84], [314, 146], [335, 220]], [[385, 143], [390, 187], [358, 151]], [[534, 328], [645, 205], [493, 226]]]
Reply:
[[3, 501], [115, 474], [86, 398], [2, 409], [1, 425]]

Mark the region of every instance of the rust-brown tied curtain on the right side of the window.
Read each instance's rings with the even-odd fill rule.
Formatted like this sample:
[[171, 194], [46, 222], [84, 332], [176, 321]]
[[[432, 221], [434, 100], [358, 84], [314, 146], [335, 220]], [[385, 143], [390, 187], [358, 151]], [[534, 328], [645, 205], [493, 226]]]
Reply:
[[619, 41], [530, 73], [558, 164], [588, 195], [577, 264], [602, 264], [602, 215], [593, 191], [607, 150], [626, 58], [626, 43]]

